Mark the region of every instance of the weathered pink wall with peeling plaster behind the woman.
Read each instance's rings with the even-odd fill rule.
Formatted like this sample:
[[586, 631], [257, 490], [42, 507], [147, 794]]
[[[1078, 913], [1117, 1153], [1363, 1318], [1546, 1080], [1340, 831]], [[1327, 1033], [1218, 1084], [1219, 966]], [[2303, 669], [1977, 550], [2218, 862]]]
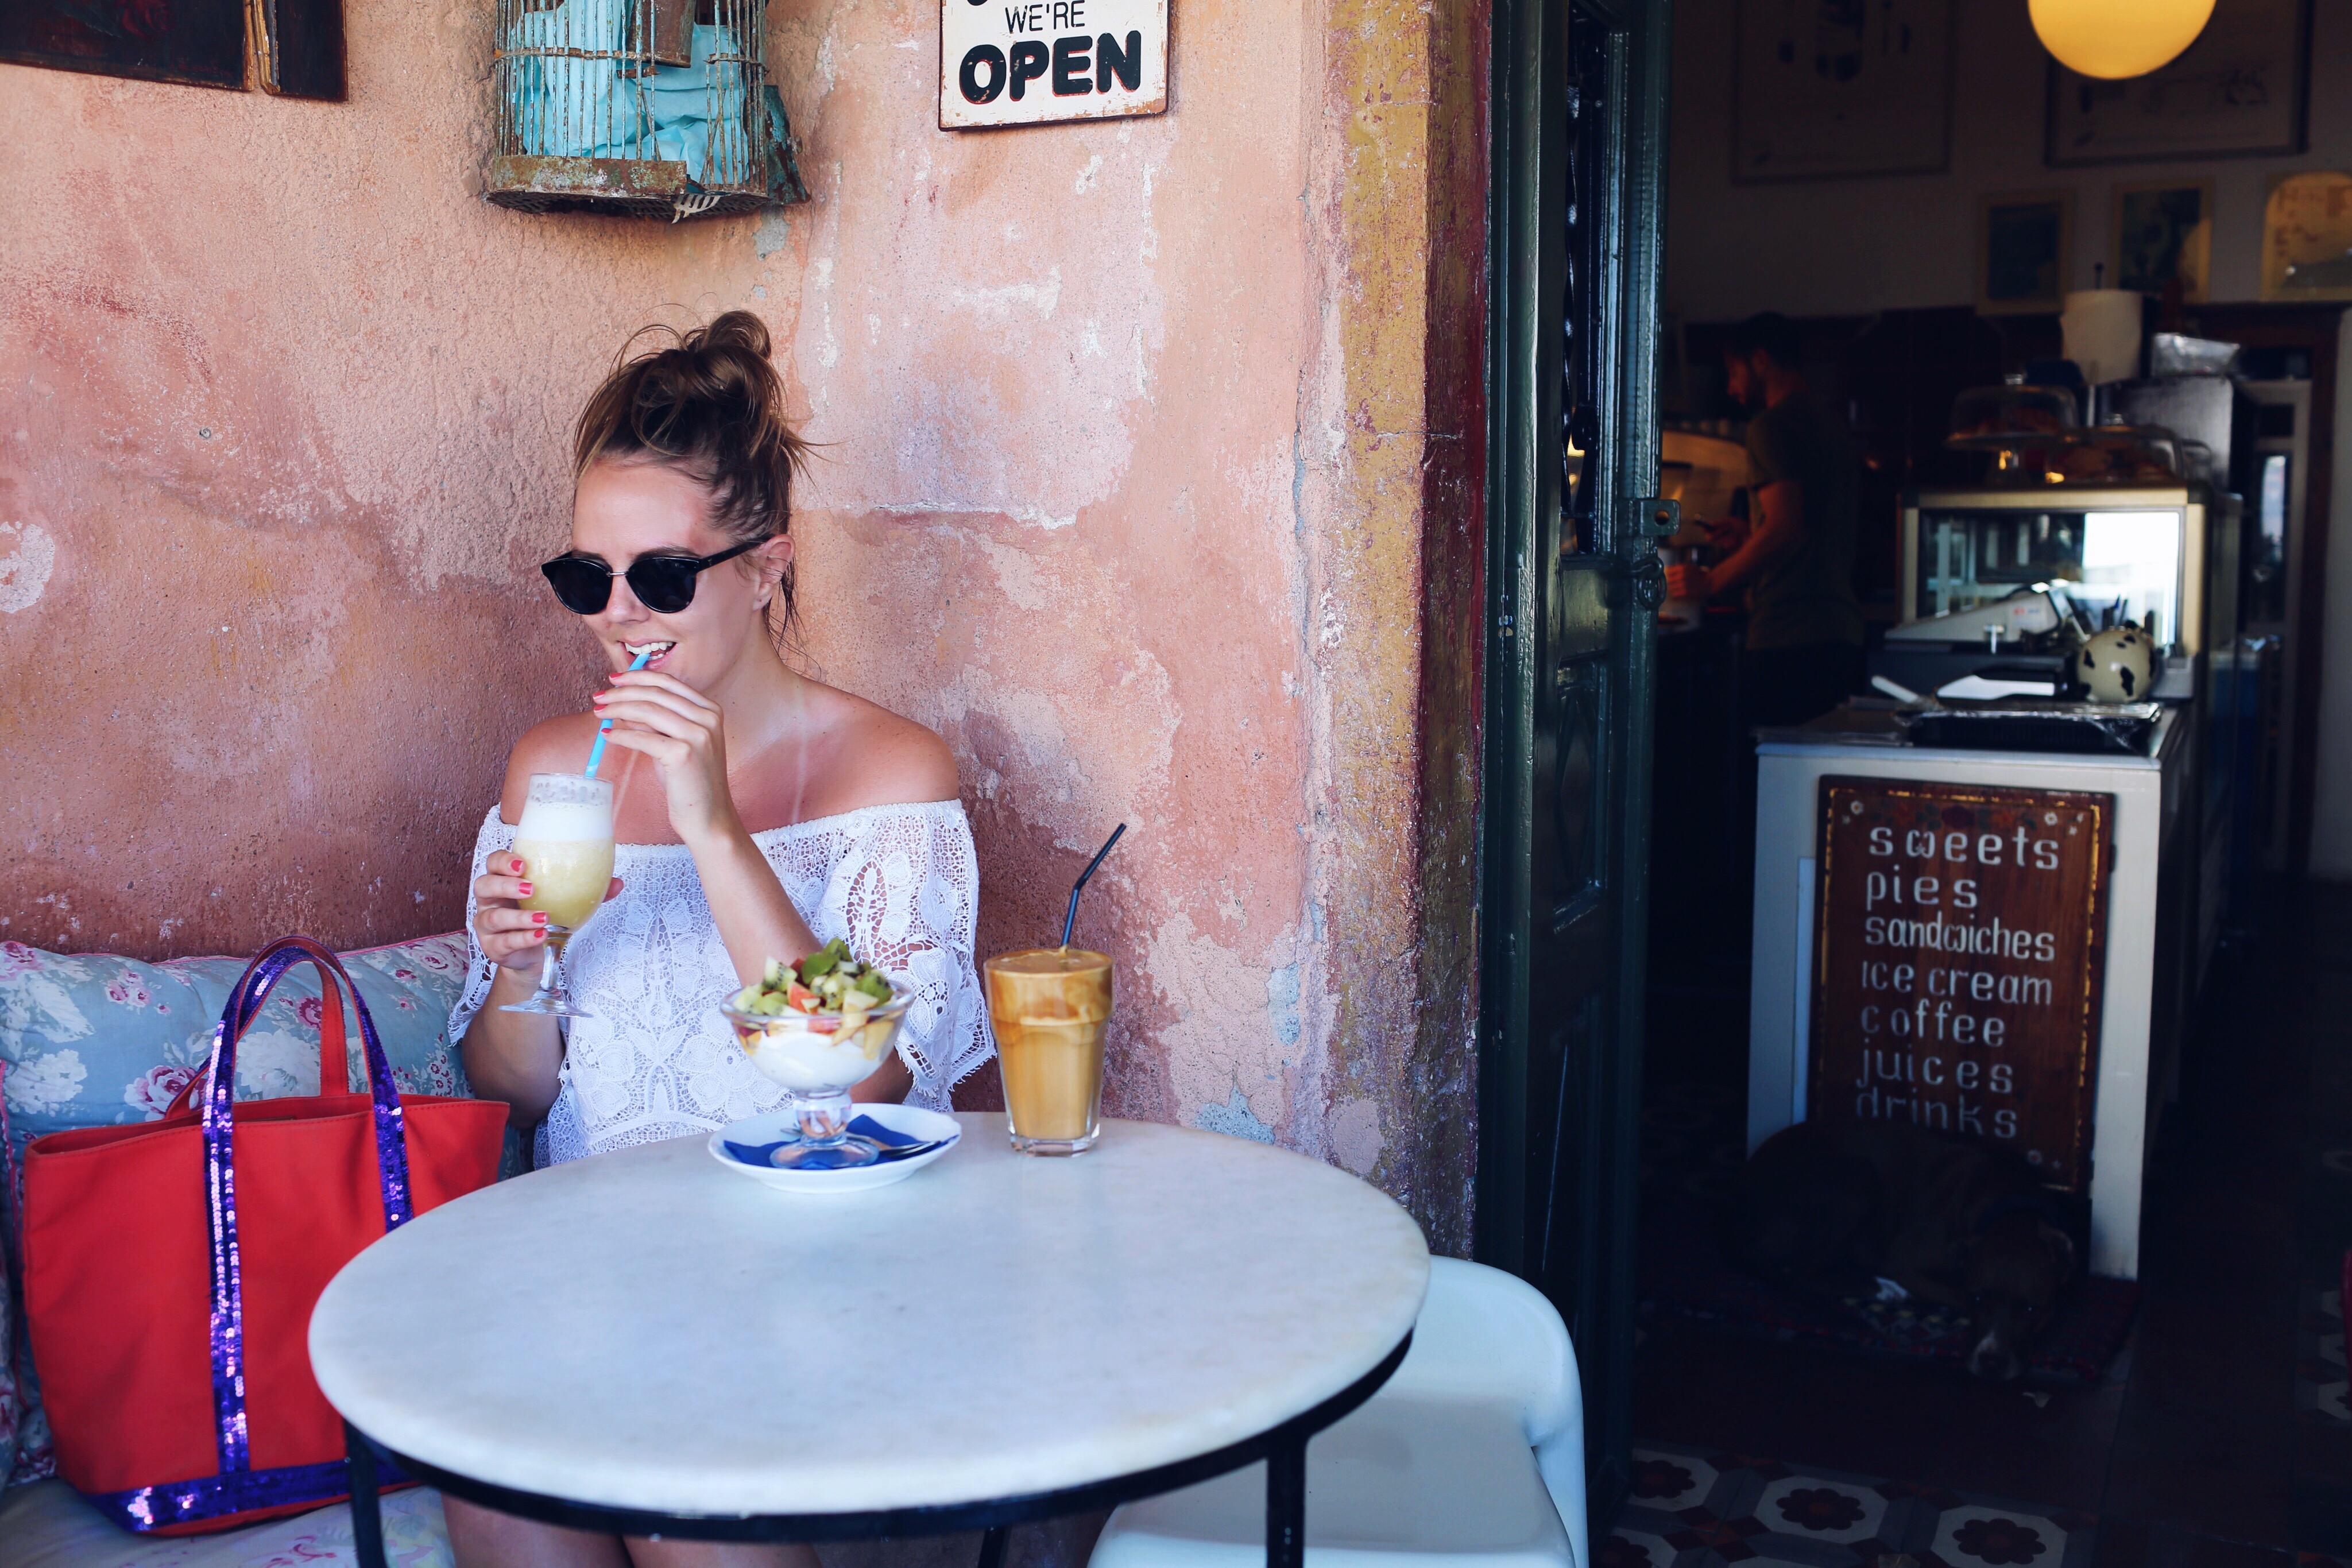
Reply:
[[804, 661], [955, 748], [983, 952], [1131, 823], [1112, 1110], [1463, 1251], [1484, 7], [1197, 0], [1169, 115], [955, 136], [934, 5], [776, 0], [814, 200], [680, 226], [477, 200], [489, 9], [353, 7], [343, 106], [0, 66], [0, 938], [454, 926], [593, 679], [567, 423], [746, 306], [823, 449]]

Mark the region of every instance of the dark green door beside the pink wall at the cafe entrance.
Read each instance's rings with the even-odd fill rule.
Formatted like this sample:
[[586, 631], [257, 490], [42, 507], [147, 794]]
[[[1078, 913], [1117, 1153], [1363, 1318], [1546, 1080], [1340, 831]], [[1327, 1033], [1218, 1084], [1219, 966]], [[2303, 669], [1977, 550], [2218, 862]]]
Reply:
[[1498, 0], [1494, 28], [1477, 1253], [1569, 1321], [1604, 1540], [1632, 1439], [1668, 5]]

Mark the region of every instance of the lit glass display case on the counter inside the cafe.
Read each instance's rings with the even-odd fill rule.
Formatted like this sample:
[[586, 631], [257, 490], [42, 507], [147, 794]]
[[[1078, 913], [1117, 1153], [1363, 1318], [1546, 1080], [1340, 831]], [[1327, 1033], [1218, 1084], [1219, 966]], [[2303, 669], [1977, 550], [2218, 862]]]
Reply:
[[2197, 654], [2216, 609], [2206, 602], [2211, 512], [2201, 484], [1915, 494], [1903, 508], [1903, 621], [2063, 583], [2096, 625], [2154, 616], [2157, 644]]

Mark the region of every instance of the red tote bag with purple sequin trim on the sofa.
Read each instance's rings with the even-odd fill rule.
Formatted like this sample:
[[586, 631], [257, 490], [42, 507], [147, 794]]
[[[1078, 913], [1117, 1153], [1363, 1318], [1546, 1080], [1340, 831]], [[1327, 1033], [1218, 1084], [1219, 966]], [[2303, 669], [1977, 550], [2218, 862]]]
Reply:
[[[346, 1081], [341, 983], [367, 1093], [235, 1105], [238, 1041], [294, 964], [320, 973], [320, 1088]], [[26, 1147], [24, 1307], [59, 1474], [155, 1535], [350, 1495], [310, 1309], [369, 1241], [496, 1180], [503, 1135], [496, 1100], [402, 1095], [343, 964], [301, 936], [270, 943], [162, 1121]]]

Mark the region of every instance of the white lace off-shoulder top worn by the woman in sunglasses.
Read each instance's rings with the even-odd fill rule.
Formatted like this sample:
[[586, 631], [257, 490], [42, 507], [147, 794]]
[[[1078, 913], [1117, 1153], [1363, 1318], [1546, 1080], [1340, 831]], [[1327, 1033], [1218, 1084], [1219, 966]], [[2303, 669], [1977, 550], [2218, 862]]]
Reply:
[[[849, 952], [915, 994], [898, 1027], [898, 1056], [915, 1074], [908, 1103], [946, 1110], [948, 1091], [990, 1053], [971, 969], [981, 872], [962, 802], [863, 806], [750, 839], [818, 943], [844, 938]], [[492, 806], [473, 844], [473, 877], [513, 842], [515, 830]], [[621, 896], [564, 952], [564, 980], [593, 1018], [567, 1020], [539, 1166], [713, 1131], [786, 1100], [720, 1018], [741, 983], [687, 846], [619, 844], [614, 875]], [[449, 1013], [452, 1044], [496, 978], [473, 936], [473, 893], [466, 943], [473, 969]]]

